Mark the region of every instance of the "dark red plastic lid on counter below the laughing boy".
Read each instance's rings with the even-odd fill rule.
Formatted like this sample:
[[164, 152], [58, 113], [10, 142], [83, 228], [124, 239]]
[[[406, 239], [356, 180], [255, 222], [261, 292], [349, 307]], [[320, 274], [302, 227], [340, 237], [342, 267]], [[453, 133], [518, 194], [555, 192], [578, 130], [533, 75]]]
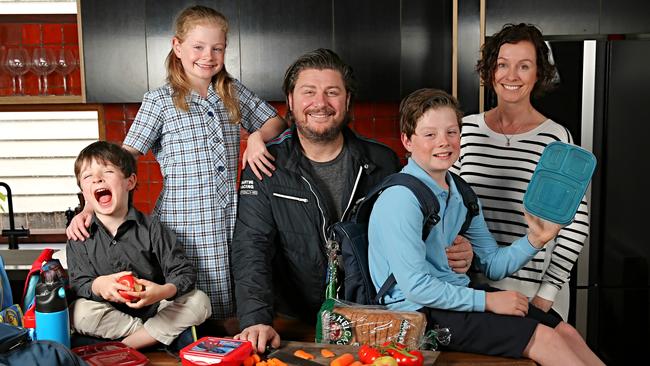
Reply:
[[72, 349], [91, 366], [140, 366], [149, 359], [122, 342], [102, 342]]

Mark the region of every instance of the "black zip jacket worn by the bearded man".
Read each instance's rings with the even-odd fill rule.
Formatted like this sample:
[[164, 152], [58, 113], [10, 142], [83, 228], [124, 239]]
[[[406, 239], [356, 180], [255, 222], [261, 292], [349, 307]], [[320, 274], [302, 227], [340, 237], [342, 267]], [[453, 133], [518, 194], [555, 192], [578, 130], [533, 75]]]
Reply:
[[[352, 158], [351, 170], [342, 174], [346, 208], [398, 171], [399, 160], [389, 147], [347, 127], [343, 135]], [[325, 237], [332, 224], [325, 218], [331, 208], [314, 183], [295, 130], [285, 131], [268, 149], [275, 157], [273, 176], [260, 181], [247, 168], [239, 192], [232, 271], [241, 329], [270, 325], [276, 312], [313, 323], [325, 298]]]

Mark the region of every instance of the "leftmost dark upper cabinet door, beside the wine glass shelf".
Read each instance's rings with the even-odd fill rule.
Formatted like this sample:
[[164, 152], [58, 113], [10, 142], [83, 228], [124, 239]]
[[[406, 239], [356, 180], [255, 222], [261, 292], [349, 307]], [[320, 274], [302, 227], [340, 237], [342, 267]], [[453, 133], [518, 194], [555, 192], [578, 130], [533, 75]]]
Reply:
[[147, 91], [145, 2], [81, 2], [86, 101], [141, 101]]

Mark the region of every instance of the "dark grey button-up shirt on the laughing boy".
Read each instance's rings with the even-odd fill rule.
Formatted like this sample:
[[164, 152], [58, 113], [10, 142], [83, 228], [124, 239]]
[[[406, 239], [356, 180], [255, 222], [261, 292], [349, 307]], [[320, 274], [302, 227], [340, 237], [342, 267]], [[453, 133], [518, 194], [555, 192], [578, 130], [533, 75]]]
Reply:
[[[99, 276], [121, 271], [131, 271], [138, 278], [160, 285], [174, 284], [177, 290], [174, 297], [194, 288], [196, 271], [174, 233], [157, 218], [131, 207], [113, 237], [93, 214], [89, 233], [85, 241], [70, 240], [66, 246], [70, 285], [78, 296], [105, 301], [93, 294], [92, 282]], [[132, 309], [121, 303], [113, 305], [140, 318], [155, 315], [158, 308], [158, 304], [142, 309]]]

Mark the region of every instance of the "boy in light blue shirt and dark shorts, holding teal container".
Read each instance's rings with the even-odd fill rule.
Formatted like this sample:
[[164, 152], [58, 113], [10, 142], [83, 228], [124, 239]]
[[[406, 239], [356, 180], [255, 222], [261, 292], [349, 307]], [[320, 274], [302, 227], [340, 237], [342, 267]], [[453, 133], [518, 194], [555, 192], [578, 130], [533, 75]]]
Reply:
[[[448, 169], [460, 153], [462, 112], [457, 101], [435, 89], [420, 89], [400, 105], [400, 130], [411, 153], [403, 173], [422, 180], [440, 203], [440, 221], [426, 241], [422, 211], [402, 186], [377, 199], [368, 229], [370, 274], [376, 289], [394, 274], [397, 284], [385, 301], [390, 309], [416, 310], [427, 327], [449, 328], [454, 351], [529, 357], [540, 364], [597, 365], [580, 334], [569, 324], [528, 303], [516, 291], [473, 288], [466, 274], [453, 272], [445, 248], [459, 233], [467, 208]], [[503, 278], [527, 263], [554, 238], [560, 226], [526, 214], [528, 235], [499, 247], [482, 212], [466, 232], [478, 265], [492, 279]]]

